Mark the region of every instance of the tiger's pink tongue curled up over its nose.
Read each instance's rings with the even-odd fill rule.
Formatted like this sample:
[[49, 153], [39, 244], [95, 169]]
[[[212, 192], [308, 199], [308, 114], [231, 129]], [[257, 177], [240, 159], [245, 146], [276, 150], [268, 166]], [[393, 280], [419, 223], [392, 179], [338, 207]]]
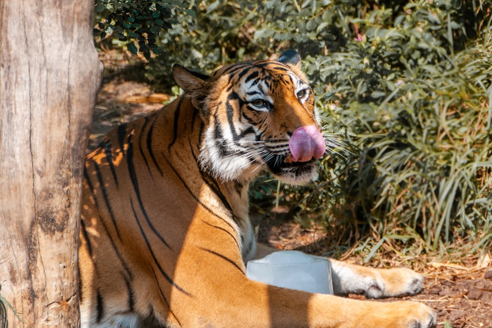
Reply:
[[325, 139], [316, 126], [309, 125], [294, 131], [289, 141], [294, 162], [307, 162], [312, 157], [321, 158], [325, 153]]

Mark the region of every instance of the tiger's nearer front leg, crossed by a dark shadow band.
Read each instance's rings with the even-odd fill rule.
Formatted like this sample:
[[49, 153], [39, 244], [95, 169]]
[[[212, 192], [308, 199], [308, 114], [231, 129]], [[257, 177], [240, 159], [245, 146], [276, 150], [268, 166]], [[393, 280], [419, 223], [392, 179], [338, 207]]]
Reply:
[[[196, 237], [205, 229], [197, 224], [189, 232]], [[221, 239], [219, 234], [207, 236]], [[434, 312], [418, 302], [361, 301], [251, 281], [241, 254], [232, 252], [226, 239], [221, 241], [220, 247], [205, 248], [200, 246], [204, 239], [194, 238], [181, 251], [174, 279], [193, 288], [188, 294], [172, 292], [170, 308], [182, 327], [429, 328], [435, 324]]]

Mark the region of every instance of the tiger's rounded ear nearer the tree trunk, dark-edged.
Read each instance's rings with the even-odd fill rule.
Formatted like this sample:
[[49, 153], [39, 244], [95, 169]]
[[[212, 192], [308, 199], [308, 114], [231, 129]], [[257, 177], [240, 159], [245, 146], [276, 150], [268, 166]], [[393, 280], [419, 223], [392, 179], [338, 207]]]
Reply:
[[178, 86], [190, 97], [193, 106], [203, 109], [203, 100], [205, 100], [210, 91], [209, 77], [192, 72], [179, 64], [173, 65], [173, 76]]

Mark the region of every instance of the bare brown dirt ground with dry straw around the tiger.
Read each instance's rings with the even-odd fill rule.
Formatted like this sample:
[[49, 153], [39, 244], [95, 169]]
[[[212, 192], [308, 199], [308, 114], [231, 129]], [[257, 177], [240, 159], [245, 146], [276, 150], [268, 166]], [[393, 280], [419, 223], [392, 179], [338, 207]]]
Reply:
[[[111, 54], [101, 53], [100, 56], [106, 69], [115, 64], [106, 58], [111, 58]], [[117, 66], [121, 68], [124, 65], [123, 57], [123, 62]], [[168, 99], [168, 95], [155, 93], [146, 83], [132, 81], [126, 74], [106, 75], [94, 112], [88, 151], [96, 147], [114, 126], [145, 116], [161, 108], [162, 102]], [[303, 229], [288, 218], [255, 220], [254, 223], [259, 227], [259, 241], [278, 249], [297, 249], [320, 255], [330, 242], [322, 229]], [[361, 258], [348, 257], [346, 260], [362, 264]], [[426, 276], [424, 291], [403, 299], [424, 302], [435, 309], [437, 328], [492, 328], [492, 263], [490, 257], [486, 257], [481, 266], [476, 261], [475, 258], [470, 259], [466, 265], [432, 261], [417, 268]], [[358, 295], [348, 297], [364, 298]]]

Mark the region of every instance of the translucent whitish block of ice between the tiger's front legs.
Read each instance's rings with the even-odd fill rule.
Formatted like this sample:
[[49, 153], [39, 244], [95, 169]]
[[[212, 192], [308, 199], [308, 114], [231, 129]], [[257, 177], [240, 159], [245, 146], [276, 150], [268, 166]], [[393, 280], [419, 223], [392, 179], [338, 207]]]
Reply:
[[278, 287], [333, 294], [330, 262], [299, 251], [279, 251], [249, 261], [246, 276]]

